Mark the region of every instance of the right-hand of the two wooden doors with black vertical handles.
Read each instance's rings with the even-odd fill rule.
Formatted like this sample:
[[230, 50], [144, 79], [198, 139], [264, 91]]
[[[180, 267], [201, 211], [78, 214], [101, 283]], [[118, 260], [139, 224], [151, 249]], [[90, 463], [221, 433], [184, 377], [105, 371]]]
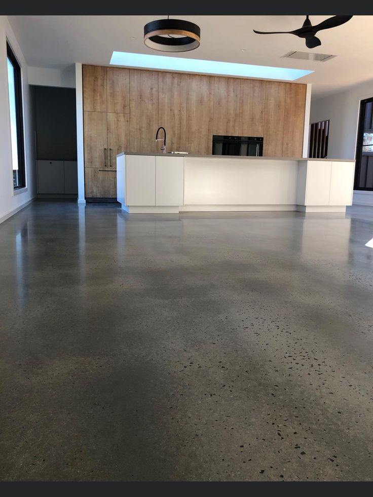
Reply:
[[107, 112], [108, 167], [117, 169], [117, 155], [129, 150], [129, 114]]

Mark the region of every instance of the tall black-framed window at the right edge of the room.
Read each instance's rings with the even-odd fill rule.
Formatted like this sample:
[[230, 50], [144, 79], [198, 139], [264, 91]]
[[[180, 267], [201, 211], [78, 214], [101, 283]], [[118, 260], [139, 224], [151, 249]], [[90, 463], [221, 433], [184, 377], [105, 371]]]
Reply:
[[360, 102], [355, 190], [373, 190], [373, 98]]

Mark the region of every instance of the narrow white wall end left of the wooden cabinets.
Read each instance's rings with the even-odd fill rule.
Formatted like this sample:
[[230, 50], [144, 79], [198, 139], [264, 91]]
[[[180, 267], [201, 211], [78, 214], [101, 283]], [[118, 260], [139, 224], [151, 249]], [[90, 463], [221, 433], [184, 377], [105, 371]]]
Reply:
[[77, 153], [78, 153], [78, 204], [85, 204], [84, 192], [84, 142], [83, 142], [83, 75], [82, 64], [75, 64], [77, 90]]

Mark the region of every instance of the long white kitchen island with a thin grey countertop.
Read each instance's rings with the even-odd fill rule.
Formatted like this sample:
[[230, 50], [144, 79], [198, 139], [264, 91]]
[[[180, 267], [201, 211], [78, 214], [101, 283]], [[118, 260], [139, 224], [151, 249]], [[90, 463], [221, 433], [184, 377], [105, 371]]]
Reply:
[[117, 199], [129, 213], [344, 212], [355, 161], [136, 154], [117, 156]]

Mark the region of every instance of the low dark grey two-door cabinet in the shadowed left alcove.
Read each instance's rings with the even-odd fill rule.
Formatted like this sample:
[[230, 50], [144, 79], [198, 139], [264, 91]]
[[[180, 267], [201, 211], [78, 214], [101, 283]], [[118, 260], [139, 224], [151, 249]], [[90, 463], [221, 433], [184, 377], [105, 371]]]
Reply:
[[78, 195], [76, 161], [38, 161], [38, 194]]

